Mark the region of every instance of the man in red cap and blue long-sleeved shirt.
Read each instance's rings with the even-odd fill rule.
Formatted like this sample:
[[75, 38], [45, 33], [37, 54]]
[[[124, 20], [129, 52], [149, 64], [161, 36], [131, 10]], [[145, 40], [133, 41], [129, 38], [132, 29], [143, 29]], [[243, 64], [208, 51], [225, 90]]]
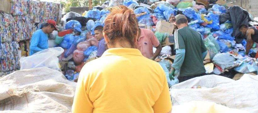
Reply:
[[48, 49], [48, 34], [52, 33], [56, 28], [56, 22], [49, 19], [43, 28], [36, 30], [31, 37], [30, 56], [38, 51]]

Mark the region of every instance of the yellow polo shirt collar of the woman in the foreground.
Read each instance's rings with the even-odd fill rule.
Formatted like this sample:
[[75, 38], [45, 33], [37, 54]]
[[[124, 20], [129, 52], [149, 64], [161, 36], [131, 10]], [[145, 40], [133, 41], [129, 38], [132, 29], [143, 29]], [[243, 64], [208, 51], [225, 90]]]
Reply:
[[106, 50], [102, 56], [119, 55], [119, 54], [143, 56], [141, 51], [134, 48], [110, 48]]

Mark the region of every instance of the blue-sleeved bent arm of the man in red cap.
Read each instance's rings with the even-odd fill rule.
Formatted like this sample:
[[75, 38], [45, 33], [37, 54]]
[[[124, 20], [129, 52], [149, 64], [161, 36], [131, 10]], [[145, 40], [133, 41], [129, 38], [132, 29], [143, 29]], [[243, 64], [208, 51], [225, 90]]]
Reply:
[[40, 34], [38, 33], [34, 33], [31, 37], [30, 50], [33, 51], [34, 53], [43, 50], [38, 47], [39, 39], [40, 39]]

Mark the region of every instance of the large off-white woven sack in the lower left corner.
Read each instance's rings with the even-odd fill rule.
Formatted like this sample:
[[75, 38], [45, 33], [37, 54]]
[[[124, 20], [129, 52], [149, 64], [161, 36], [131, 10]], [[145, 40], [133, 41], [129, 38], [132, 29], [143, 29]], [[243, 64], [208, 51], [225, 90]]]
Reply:
[[56, 70], [39, 67], [0, 78], [0, 113], [69, 113], [76, 83]]

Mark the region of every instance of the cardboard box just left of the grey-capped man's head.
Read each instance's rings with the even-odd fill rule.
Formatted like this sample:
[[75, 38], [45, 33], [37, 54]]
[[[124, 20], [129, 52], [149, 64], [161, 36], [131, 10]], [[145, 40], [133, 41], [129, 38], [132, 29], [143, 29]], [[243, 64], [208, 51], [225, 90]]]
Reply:
[[166, 22], [165, 20], [161, 20], [156, 25], [156, 31], [160, 33], [169, 33], [169, 35], [173, 34], [175, 25], [172, 23]]

